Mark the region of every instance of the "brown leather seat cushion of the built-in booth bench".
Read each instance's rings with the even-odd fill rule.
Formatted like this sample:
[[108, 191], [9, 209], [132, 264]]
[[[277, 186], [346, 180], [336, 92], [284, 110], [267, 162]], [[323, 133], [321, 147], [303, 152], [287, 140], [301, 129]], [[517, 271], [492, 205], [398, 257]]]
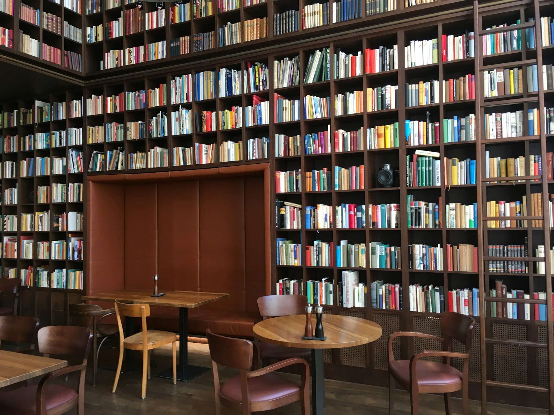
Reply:
[[[188, 332], [206, 334], [206, 329], [225, 336], [253, 338], [252, 328], [261, 320], [259, 313], [188, 310]], [[147, 317], [148, 329], [179, 331], [179, 309], [174, 307], [151, 307]], [[137, 320], [135, 326], [139, 326]]]

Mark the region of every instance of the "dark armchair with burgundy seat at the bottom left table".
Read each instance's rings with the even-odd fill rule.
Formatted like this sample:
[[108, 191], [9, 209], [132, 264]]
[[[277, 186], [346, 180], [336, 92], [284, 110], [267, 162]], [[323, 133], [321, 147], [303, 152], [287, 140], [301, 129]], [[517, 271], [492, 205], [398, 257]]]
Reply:
[[[78, 362], [73, 366], [54, 370], [45, 375], [38, 385], [0, 391], [0, 413], [9, 415], [60, 415], [77, 407], [77, 413], [85, 413], [85, 370], [92, 335], [89, 329], [75, 326], [48, 326], [38, 331], [38, 350], [45, 357], [71, 356]], [[78, 389], [54, 378], [70, 372], [80, 372]]]

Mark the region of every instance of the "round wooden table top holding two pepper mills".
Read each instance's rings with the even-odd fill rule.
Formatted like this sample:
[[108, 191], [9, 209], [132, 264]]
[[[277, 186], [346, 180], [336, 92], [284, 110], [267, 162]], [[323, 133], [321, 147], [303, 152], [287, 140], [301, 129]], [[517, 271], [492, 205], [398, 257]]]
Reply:
[[[260, 321], [254, 325], [254, 337], [268, 343], [302, 349], [337, 349], [370, 343], [381, 337], [382, 329], [377, 323], [347, 315], [324, 314], [324, 334], [327, 339], [302, 340], [306, 315], [285, 315]], [[315, 330], [315, 316], [312, 316]]]

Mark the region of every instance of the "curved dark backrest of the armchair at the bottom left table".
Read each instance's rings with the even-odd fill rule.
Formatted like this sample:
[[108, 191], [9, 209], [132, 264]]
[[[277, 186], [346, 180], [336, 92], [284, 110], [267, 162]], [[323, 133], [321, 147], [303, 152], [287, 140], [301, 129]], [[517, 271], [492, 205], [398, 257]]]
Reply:
[[92, 339], [85, 327], [47, 326], [38, 331], [38, 351], [44, 356], [71, 356], [73, 364], [86, 364]]

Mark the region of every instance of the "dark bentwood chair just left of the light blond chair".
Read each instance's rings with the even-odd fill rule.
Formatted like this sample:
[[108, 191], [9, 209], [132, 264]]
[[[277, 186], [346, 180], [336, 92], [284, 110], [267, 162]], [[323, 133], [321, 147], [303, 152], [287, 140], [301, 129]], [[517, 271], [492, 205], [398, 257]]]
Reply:
[[[98, 372], [98, 354], [100, 347], [107, 338], [117, 334], [116, 324], [104, 324], [101, 321], [109, 315], [115, 314], [114, 308], [102, 309], [96, 304], [71, 304], [69, 303], [69, 314], [71, 324], [74, 326], [86, 327], [93, 334], [93, 386], [96, 386], [96, 373]], [[90, 324], [92, 319], [93, 324]], [[98, 339], [100, 345], [98, 345]]]

